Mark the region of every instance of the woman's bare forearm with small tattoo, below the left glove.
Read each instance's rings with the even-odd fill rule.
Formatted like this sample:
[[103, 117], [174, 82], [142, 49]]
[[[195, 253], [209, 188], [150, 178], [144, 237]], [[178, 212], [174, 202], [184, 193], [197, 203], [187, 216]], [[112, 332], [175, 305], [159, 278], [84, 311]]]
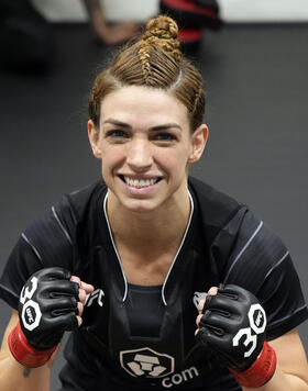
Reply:
[[13, 310], [0, 350], [0, 388], [6, 391], [50, 391], [51, 370], [56, 351], [52, 359], [40, 368], [26, 368], [19, 364], [8, 345], [9, 334], [18, 322], [18, 312]]

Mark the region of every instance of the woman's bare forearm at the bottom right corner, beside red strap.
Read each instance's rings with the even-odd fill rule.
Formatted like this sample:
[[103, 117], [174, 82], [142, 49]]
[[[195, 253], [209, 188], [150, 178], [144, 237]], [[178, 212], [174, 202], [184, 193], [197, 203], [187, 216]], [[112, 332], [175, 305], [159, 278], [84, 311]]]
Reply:
[[243, 388], [244, 391], [306, 391], [308, 390], [307, 357], [296, 329], [272, 340], [271, 346], [277, 355], [277, 368], [273, 378], [257, 389]]

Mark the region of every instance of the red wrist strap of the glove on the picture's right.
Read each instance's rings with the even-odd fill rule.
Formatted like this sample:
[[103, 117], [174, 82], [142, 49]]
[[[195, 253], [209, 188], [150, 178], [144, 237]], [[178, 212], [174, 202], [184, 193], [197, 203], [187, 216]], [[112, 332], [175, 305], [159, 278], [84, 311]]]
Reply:
[[242, 372], [237, 372], [231, 368], [228, 369], [234, 376], [239, 384], [252, 389], [258, 388], [264, 386], [275, 372], [275, 350], [265, 340], [261, 354], [249, 369]]

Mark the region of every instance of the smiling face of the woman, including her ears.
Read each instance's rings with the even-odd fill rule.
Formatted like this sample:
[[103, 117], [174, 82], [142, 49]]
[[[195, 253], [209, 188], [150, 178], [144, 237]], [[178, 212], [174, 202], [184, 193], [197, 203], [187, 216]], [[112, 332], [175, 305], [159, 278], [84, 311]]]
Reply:
[[187, 109], [160, 89], [123, 87], [101, 102], [99, 129], [88, 122], [94, 155], [113, 206], [144, 212], [187, 199], [187, 166], [197, 161], [207, 126], [189, 130]]

